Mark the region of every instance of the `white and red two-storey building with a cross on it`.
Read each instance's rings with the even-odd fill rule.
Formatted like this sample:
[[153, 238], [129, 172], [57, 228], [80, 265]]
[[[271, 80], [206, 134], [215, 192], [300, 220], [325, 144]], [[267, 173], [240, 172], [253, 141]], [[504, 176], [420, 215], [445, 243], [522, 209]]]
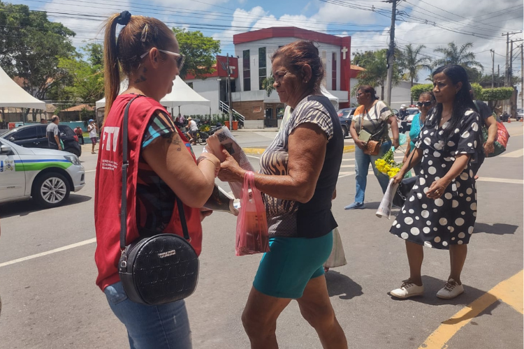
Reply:
[[351, 37], [339, 37], [296, 27], [274, 27], [233, 36], [238, 58], [238, 82], [232, 94], [233, 109], [245, 117], [246, 128], [279, 126], [283, 103], [275, 91], [268, 96], [263, 80], [272, 74], [271, 57], [279, 47], [296, 40], [312, 40], [319, 48], [326, 78], [323, 85], [337, 97], [339, 106], [349, 105]]

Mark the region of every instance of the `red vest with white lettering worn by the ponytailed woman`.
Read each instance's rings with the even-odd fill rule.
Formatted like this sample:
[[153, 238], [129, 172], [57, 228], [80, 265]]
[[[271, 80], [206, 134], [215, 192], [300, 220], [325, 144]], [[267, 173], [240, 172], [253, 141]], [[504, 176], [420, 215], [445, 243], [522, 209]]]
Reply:
[[[102, 290], [106, 286], [120, 281], [117, 264], [120, 258], [120, 209], [122, 203], [122, 120], [124, 109], [133, 94], [120, 95], [113, 103], [103, 126], [96, 163], [95, 192], [94, 192], [94, 226], [96, 230], [96, 252], [94, 260], [99, 269], [96, 285]], [[149, 120], [157, 110], [166, 112], [166, 109], [157, 101], [148, 97], [136, 98], [129, 108], [128, 122], [128, 151], [129, 168], [127, 170], [127, 235], [126, 244], [138, 239], [136, 223], [136, 183], [138, 177], [138, 159], [142, 146], [143, 135]], [[191, 154], [191, 147], [187, 138], [178, 130], [178, 133]], [[194, 155], [193, 155], [194, 158]], [[140, 164], [141, 166], [144, 163]], [[147, 164], [146, 164], [147, 165]], [[200, 209], [184, 205], [187, 228], [191, 237], [191, 246], [197, 255], [202, 249], [202, 225]], [[173, 209], [171, 221], [163, 230], [164, 233], [173, 233], [183, 236], [180, 216], [177, 205]]]

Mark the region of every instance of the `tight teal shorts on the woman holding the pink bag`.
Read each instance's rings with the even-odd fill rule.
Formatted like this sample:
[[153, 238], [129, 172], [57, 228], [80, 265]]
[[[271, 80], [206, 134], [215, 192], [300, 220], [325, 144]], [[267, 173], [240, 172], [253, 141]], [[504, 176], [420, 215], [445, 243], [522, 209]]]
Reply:
[[323, 264], [333, 248], [333, 232], [322, 237], [272, 237], [264, 253], [253, 287], [278, 298], [302, 297], [307, 283], [324, 274]]

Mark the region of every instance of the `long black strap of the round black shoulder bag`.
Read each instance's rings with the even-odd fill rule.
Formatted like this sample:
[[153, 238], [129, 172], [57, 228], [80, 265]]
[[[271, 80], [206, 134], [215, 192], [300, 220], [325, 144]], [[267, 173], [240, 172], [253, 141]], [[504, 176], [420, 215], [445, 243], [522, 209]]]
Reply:
[[[129, 167], [129, 161], [127, 159], [127, 125], [129, 120], [129, 107], [131, 103], [140, 96], [136, 96], [126, 105], [124, 110], [124, 120], [122, 121], [122, 207], [120, 210], [120, 251], [124, 254], [126, 249], [126, 232], [127, 232], [127, 168]], [[180, 216], [180, 223], [182, 224], [182, 231], [184, 232], [184, 239], [191, 242], [189, 237], [189, 231], [187, 230], [187, 221], [184, 214], [184, 204], [180, 198], [176, 197], [178, 214]]]

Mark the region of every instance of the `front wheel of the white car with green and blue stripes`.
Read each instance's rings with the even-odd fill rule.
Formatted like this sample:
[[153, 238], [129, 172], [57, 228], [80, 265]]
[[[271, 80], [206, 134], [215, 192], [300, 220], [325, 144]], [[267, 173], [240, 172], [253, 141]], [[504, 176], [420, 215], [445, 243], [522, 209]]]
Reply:
[[62, 205], [70, 192], [67, 179], [57, 172], [42, 174], [33, 184], [33, 198], [45, 208]]

